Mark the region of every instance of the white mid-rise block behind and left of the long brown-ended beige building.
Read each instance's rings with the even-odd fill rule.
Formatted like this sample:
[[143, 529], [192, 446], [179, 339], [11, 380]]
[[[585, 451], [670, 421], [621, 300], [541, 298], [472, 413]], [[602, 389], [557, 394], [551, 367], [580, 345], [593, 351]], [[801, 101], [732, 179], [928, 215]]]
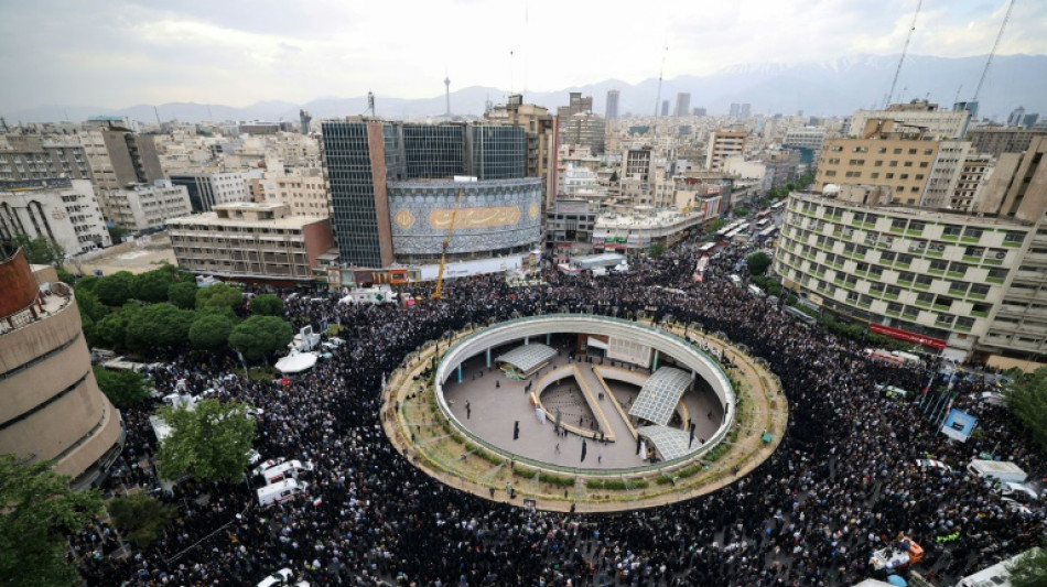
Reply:
[[132, 231], [162, 227], [168, 219], [193, 213], [185, 186], [170, 180], [158, 180], [152, 185], [136, 185], [106, 191], [109, 221]]

